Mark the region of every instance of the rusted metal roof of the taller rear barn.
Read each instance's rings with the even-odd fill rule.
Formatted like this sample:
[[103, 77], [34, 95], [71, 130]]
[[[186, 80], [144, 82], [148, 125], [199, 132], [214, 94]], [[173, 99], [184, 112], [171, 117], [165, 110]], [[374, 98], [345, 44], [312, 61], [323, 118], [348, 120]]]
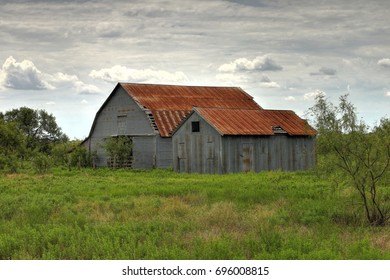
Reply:
[[262, 109], [253, 97], [238, 87], [204, 87], [120, 83], [128, 95], [153, 114], [162, 137], [191, 113], [193, 107]]

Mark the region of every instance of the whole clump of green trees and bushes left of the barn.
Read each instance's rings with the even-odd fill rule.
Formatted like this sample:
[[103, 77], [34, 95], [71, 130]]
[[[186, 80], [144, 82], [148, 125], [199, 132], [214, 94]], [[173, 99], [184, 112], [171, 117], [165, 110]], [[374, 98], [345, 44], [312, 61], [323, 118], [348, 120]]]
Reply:
[[90, 156], [62, 132], [55, 117], [28, 107], [0, 112], [0, 170], [34, 168], [47, 172], [53, 165], [88, 166]]

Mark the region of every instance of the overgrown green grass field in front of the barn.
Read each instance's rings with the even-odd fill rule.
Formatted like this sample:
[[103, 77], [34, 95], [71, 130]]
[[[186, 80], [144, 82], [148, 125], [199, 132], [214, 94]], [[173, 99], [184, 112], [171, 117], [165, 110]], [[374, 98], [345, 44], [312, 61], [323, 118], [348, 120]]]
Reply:
[[311, 172], [0, 175], [0, 259], [390, 259], [390, 227]]

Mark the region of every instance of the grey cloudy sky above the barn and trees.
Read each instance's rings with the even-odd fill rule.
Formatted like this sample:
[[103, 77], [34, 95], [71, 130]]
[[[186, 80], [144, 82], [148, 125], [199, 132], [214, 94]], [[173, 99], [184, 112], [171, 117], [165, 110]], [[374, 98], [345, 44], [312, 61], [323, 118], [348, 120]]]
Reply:
[[350, 93], [390, 117], [388, 0], [0, 0], [0, 111], [82, 139], [118, 81], [239, 86], [303, 116]]

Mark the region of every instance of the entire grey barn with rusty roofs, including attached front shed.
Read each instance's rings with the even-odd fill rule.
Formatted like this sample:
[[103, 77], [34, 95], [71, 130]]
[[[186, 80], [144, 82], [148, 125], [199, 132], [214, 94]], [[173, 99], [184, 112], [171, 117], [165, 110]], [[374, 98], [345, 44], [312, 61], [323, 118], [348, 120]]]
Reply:
[[238, 87], [118, 83], [83, 144], [109, 166], [104, 139], [127, 136], [128, 167], [198, 173], [303, 170], [315, 131], [292, 111], [264, 110]]

